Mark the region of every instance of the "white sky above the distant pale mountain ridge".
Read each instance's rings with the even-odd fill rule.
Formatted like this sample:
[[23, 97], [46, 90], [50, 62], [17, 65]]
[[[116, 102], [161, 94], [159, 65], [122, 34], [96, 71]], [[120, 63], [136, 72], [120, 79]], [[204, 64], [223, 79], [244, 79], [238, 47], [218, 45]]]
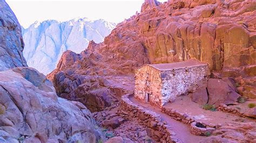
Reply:
[[[158, 0], [165, 2], [167, 0]], [[144, 0], [6, 0], [19, 23], [28, 27], [35, 21], [55, 19], [60, 22], [76, 17], [105, 19], [120, 23], [140, 12]]]

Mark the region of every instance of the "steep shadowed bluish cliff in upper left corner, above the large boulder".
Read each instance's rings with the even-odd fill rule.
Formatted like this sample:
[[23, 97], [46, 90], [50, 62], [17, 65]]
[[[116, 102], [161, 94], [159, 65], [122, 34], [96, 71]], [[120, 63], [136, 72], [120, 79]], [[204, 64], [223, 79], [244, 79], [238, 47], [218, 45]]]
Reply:
[[9, 5], [0, 2], [0, 71], [26, 66], [21, 26]]

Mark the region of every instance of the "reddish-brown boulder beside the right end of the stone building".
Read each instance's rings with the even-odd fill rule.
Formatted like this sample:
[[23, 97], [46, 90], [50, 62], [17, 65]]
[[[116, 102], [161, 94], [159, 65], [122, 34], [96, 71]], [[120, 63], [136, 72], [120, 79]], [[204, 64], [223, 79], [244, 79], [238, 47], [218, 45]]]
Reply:
[[210, 78], [207, 83], [207, 90], [209, 94], [208, 104], [210, 105], [233, 104], [240, 97], [230, 85], [221, 79]]

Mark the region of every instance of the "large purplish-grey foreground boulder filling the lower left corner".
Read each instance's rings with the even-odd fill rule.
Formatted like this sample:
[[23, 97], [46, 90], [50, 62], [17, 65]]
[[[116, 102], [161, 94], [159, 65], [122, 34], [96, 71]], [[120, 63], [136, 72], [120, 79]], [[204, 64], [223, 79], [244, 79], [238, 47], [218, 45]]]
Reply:
[[91, 112], [59, 98], [46, 77], [32, 68], [0, 72], [0, 142], [97, 142]]

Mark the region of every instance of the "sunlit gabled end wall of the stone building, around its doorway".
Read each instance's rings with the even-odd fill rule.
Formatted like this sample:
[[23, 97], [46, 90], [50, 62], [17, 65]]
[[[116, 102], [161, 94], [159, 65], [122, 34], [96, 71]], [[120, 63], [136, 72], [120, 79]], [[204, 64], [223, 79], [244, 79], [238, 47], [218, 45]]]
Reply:
[[[148, 75], [147, 75], [148, 73]], [[145, 65], [135, 70], [134, 97], [145, 102], [146, 93], [150, 94], [149, 102], [154, 105], [161, 105], [161, 78], [160, 71]]]

